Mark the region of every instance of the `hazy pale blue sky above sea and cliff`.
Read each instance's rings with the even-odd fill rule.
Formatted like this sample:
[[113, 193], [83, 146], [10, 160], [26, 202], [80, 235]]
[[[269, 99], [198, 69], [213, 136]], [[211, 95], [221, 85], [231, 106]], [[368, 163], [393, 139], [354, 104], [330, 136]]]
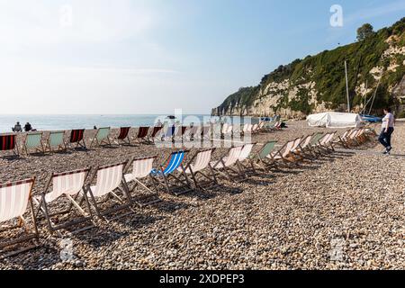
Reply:
[[209, 113], [404, 13], [404, 0], [0, 0], [0, 113]]

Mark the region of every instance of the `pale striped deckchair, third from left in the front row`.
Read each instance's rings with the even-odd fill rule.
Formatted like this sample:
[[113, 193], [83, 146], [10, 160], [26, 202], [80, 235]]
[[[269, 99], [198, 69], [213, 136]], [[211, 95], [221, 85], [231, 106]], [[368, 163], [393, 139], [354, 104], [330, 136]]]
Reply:
[[[106, 217], [108, 215], [118, 211], [130, 210], [125, 214], [113, 217], [111, 220], [121, 218], [133, 212], [130, 208], [132, 204], [130, 193], [123, 176], [123, 171], [127, 163], [128, 161], [125, 161], [115, 165], [96, 168], [90, 178], [89, 184], [86, 185], [87, 196], [90, 198], [90, 202], [93, 204], [98, 217], [102, 220], [107, 220]], [[123, 200], [118, 192], [123, 194], [126, 200]], [[107, 202], [110, 198], [115, 200], [117, 205], [105, 211], [101, 211], [100, 204]], [[97, 202], [97, 199], [100, 201]]]

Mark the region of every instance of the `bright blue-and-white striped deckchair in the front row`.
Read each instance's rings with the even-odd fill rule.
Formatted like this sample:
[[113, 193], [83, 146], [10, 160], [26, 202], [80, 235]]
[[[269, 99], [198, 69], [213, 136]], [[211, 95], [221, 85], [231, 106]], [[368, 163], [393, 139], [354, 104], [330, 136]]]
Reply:
[[[166, 166], [152, 170], [151, 176], [157, 189], [164, 188], [176, 196], [193, 191], [188, 176], [184, 173], [184, 157], [188, 151], [173, 152], [166, 159]], [[180, 169], [179, 169], [180, 168]]]

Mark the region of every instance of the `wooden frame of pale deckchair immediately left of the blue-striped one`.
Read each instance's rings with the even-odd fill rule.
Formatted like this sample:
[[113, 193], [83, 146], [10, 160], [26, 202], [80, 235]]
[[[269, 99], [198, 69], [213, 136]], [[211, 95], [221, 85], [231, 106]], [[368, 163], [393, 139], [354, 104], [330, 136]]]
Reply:
[[[153, 156], [153, 157], [140, 157], [140, 158], [139, 158], [139, 157], [132, 157], [132, 158], [130, 159], [130, 161], [128, 162], [128, 165], [124, 168], [124, 176], [125, 176], [126, 174], [129, 174], [130, 167], [133, 166], [133, 163], [134, 163], [135, 161], [149, 160], [149, 159], [155, 160], [156, 158], [157, 158], [157, 156]], [[150, 171], [150, 172], [152, 172], [152, 171]], [[151, 175], [150, 173], [149, 173], [149, 175], [148, 175], [148, 179], [150, 180], [151, 184], [153, 184], [155, 191], [153, 191], [152, 189], [150, 189], [150, 188], [148, 187], [148, 184], [147, 184], [147, 183], [144, 183], [144, 182], [140, 181], [138, 178], [133, 178], [133, 179], [132, 179], [132, 181], [134, 182], [134, 184], [133, 184], [132, 187], [130, 187], [130, 182], [127, 182], [128, 189], [129, 189], [129, 193], [130, 193], [130, 196], [131, 196], [131, 200], [132, 200], [132, 202], [137, 203], [140, 208], [143, 208], [143, 207], [148, 206], [148, 205], [155, 204], [155, 203], [157, 203], [157, 202], [162, 202], [162, 200], [159, 198], [159, 194], [158, 194], [158, 190], [157, 190], [157, 184], [153, 181], [152, 175]], [[148, 193], [150, 193], [150, 196], [155, 197], [155, 199], [154, 199], [154, 200], [151, 200], [151, 201], [148, 201], [148, 202], [141, 202], [141, 201], [139, 201], [139, 200], [137, 200], [137, 199], [134, 199], [134, 198], [132, 197], [132, 194], [131, 194], [131, 193], [133, 193], [133, 192], [135, 191], [135, 189], [138, 188], [138, 187], [143, 188], [145, 191], [147, 191]]]

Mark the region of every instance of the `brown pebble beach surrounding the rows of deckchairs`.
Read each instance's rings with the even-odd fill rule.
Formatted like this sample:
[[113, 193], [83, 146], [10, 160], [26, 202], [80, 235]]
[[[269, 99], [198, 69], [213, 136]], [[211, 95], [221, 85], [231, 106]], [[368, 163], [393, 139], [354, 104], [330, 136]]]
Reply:
[[[329, 131], [305, 121], [288, 126], [254, 135], [253, 142], [281, 145]], [[88, 143], [92, 132], [86, 131]], [[404, 269], [404, 138], [405, 124], [398, 122], [392, 156], [374, 141], [241, 183], [220, 179], [208, 191], [160, 193], [162, 202], [133, 207], [119, 220], [96, 220], [96, 229], [77, 235], [51, 235], [42, 222], [41, 246], [1, 259], [0, 269]], [[0, 157], [0, 182], [36, 175], [39, 194], [50, 172], [153, 155], [162, 163], [170, 150], [138, 145]], [[214, 158], [226, 151], [217, 148]], [[64, 239], [73, 248], [68, 260], [61, 257]]]

